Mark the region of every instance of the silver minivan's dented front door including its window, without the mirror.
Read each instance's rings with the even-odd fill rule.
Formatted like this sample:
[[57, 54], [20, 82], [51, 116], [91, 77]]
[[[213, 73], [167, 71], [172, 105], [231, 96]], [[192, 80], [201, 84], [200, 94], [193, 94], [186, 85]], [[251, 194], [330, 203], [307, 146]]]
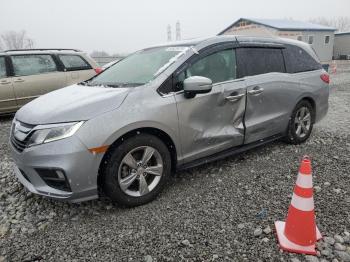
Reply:
[[213, 89], [193, 98], [181, 91], [175, 95], [184, 161], [242, 145], [246, 87], [236, 79], [235, 50], [215, 47], [200, 53], [174, 77], [177, 88], [190, 76], [210, 78]]

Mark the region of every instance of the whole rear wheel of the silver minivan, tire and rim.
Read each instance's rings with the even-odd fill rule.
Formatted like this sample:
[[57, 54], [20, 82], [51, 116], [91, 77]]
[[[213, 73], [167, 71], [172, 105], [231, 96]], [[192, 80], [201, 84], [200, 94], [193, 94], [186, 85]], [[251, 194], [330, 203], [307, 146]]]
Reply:
[[294, 145], [305, 142], [311, 135], [314, 115], [311, 104], [306, 100], [300, 101], [289, 120], [285, 141]]

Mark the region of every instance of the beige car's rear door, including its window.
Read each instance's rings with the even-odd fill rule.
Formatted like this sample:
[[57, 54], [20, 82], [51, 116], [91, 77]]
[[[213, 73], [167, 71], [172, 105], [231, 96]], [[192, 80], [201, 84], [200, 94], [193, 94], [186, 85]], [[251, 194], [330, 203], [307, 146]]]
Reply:
[[18, 106], [65, 86], [65, 73], [57, 70], [51, 55], [13, 55], [11, 59]]

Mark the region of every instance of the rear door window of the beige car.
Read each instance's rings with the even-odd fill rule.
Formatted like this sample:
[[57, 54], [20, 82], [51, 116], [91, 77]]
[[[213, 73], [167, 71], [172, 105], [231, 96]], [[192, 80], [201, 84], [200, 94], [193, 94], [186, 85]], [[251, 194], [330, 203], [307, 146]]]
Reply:
[[57, 71], [51, 55], [16, 55], [12, 56], [16, 76], [28, 76]]

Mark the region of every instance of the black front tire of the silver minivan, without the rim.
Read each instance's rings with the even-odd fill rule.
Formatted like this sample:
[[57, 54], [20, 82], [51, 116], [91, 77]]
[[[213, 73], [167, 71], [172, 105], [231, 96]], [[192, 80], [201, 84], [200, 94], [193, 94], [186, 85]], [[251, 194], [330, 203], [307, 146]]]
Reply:
[[[122, 168], [120, 167], [122, 160], [130, 151], [143, 146], [152, 147], [159, 152], [163, 162], [163, 172], [160, 176], [160, 181], [153, 190], [145, 195], [130, 196], [121, 189], [118, 182], [119, 168]], [[171, 157], [168, 148], [158, 137], [149, 134], [138, 134], [128, 138], [119, 146], [112, 149], [106, 159], [102, 172], [103, 192], [112, 201], [127, 207], [139, 206], [154, 200], [164, 189], [171, 175]]]

